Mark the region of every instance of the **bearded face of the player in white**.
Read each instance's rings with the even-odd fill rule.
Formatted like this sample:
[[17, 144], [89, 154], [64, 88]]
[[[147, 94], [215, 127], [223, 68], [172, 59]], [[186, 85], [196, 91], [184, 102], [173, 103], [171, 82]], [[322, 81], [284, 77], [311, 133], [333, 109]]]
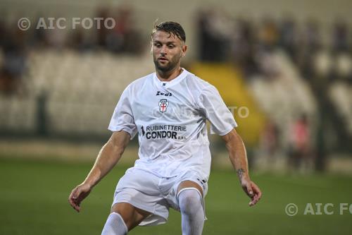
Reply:
[[163, 72], [172, 71], [186, 54], [187, 46], [173, 34], [156, 31], [151, 38], [151, 52], [156, 68]]

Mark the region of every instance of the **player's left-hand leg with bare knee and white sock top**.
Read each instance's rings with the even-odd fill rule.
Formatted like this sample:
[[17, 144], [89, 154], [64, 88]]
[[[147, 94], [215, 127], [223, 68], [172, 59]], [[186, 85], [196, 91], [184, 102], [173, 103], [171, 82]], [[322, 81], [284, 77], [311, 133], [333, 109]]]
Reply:
[[106, 220], [101, 235], [125, 235], [151, 213], [130, 203], [116, 203]]

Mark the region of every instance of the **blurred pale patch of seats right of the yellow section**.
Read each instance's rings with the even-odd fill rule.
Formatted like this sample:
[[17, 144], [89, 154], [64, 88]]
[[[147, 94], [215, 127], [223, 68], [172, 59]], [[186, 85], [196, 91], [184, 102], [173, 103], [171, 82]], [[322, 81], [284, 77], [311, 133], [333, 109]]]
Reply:
[[[284, 145], [289, 140], [291, 123], [301, 114], [314, 119], [316, 112], [315, 97], [310, 92], [305, 80], [300, 77], [296, 66], [282, 51], [266, 54], [261, 61], [275, 70], [272, 77], [258, 75], [251, 79], [250, 88], [256, 102], [268, 118], [275, 122], [281, 130]], [[265, 66], [265, 65], [263, 65]], [[260, 77], [261, 76], [261, 77]]]

